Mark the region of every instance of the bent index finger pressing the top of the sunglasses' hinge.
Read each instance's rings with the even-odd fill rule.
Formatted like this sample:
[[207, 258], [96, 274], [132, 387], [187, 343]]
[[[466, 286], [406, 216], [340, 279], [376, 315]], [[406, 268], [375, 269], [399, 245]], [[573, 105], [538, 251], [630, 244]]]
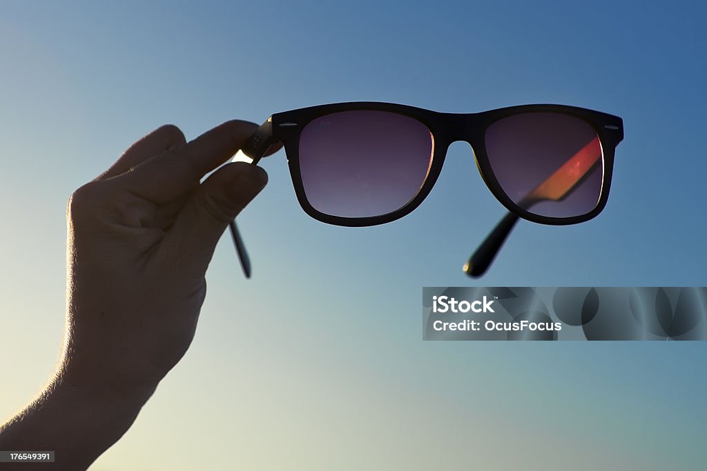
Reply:
[[115, 179], [154, 203], [174, 201], [199, 184], [205, 174], [233, 157], [257, 127], [250, 121], [226, 121]]

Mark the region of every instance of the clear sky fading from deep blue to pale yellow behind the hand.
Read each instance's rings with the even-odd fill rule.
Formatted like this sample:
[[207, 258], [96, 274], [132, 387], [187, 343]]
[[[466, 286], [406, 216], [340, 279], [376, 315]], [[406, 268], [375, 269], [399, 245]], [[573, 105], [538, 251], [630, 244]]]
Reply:
[[521, 221], [479, 280], [462, 264], [505, 210], [466, 143], [368, 228], [308, 217], [264, 160], [253, 278], [223, 237], [192, 347], [90, 469], [703, 469], [704, 342], [421, 340], [424, 286], [705, 284], [707, 6], [637, 5], [0, 0], [0, 416], [57, 362], [67, 198], [152, 129], [547, 102], [624, 119], [607, 207]]

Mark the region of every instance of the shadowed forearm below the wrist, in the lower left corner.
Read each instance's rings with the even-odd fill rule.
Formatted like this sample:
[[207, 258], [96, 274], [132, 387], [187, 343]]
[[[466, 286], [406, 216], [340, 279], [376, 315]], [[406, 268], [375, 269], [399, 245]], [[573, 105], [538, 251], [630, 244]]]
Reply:
[[[53, 470], [85, 470], [129, 429], [145, 400], [89, 392], [57, 379], [0, 427], [0, 451], [54, 451]], [[23, 470], [45, 470], [23, 463]]]

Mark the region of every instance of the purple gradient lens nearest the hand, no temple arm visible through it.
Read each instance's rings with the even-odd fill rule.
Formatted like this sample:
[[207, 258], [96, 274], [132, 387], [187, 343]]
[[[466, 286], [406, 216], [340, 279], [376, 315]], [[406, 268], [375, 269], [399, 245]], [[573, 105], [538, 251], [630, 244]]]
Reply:
[[300, 174], [313, 208], [373, 217], [403, 208], [432, 163], [433, 138], [416, 119], [381, 111], [327, 114], [300, 134]]

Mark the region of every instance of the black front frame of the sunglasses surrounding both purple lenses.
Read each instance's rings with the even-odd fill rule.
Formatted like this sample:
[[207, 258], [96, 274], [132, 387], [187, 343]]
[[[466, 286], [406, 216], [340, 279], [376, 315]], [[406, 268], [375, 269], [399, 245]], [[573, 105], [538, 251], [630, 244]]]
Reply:
[[[430, 171], [420, 191], [402, 208], [392, 213], [373, 217], [341, 217], [322, 213], [313, 208], [308, 201], [300, 173], [300, 133], [305, 129], [305, 126], [317, 118], [326, 116], [327, 114], [346, 111], [382, 111], [402, 114], [420, 121], [431, 132], [434, 150]], [[486, 129], [499, 119], [531, 112], [567, 114], [582, 119], [592, 126], [592, 129], [597, 133], [602, 146], [604, 172], [599, 201], [595, 208], [589, 213], [572, 217], [537, 215], [514, 203], [503, 191], [501, 184], [498, 183], [491, 169], [489, 156], [486, 152]], [[408, 105], [397, 105], [395, 103], [346, 102], [293, 109], [291, 111], [273, 114], [245, 143], [243, 153], [252, 157], [253, 163], [257, 164], [260, 157], [267, 153], [271, 145], [275, 145], [278, 142], [282, 143], [287, 155], [287, 162], [290, 167], [295, 194], [305, 213], [314, 217], [316, 220], [328, 224], [363, 227], [395, 221], [418, 208], [428, 196], [440, 176], [450, 144], [456, 141], [466, 141], [474, 150], [474, 158], [479, 167], [481, 178], [484, 180], [484, 183], [488, 186], [493, 196], [496, 196], [498, 201], [501, 202], [506, 209], [522, 217], [522, 219], [532, 222], [547, 225], [570, 225], [585, 222], [596, 217], [606, 206], [614, 171], [614, 154], [617, 145], [623, 138], [624, 123], [620, 117], [597, 112], [592, 109], [568, 105], [519, 105], [479, 113], [443, 113]]]

